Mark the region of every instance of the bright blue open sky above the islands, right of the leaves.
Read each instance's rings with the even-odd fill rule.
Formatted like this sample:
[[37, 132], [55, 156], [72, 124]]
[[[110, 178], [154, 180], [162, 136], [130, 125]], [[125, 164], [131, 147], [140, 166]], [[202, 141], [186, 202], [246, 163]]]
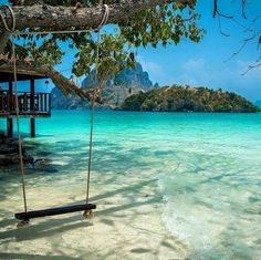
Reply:
[[[231, 20], [221, 19], [222, 30], [230, 34], [223, 37], [219, 30], [218, 19], [212, 18], [212, 0], [198, 0], [197, 11], [201, 13], [199, 27], [206, 30], [201, 42], [182, 40], [178, 45], [173, 44], [167, 48], [139, 48], [137, 61], [149, 73], [150, 80], [160, 86], [173, 84], [206, 86], [232, 91], [252, 102], [261, 100], [261, 67], [241, 75], [261, 55], [261, 46], [257, 49], [258, 40], [249, 42], [238, 55], [227, 61], [250, 34]], [[0, 3], [4, 3], [4, 0], [0, 0]], [[239, 0], [219, 0], [219, 7], [220, 11], [233, 14], [247, 25], [251, 24], [253, 18], [261, 15], [261, 0], [249, 1], [248, 20], [243, 20], [240, 15]], [[261, 18], [255, 25], [255, 29], [260, 28]], [[63, 49], [66, 55], [58, 69], [70, 76], [73, 52], [65, 45]], [[41, 84], [44, 85], [43, 82]]]

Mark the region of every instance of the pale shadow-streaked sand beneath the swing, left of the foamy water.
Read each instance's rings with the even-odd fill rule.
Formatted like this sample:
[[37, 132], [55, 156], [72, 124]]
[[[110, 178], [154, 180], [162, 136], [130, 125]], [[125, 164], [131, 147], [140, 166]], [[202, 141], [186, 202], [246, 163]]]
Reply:
[[[128, 173], [111, 178], [102, 176], [92, 186], [91, 201], [97, 205], [92, 220], [79, 212], [34, 219], [20, 230], [12, 217], [22, 206], [15, 185], [17, 193], [0, 201], [0, 259], [186, 259], [186, 245], [168, 235], [161, 220], [157, 179], [149, 171], [143, 177]], [[81, 191], [65, 180], [29, 185], [28, 200], [38, 209], [46, 201], [62, 206], [82, 202]]]

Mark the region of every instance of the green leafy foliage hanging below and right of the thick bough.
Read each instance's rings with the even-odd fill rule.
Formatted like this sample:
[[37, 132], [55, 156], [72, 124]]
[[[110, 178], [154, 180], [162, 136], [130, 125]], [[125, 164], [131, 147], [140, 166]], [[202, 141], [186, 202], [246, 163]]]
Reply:
[[[11, 1], [11, 0], [10, 0]], [[13, 1], [12, 1], [13, 2]], [[66, 7], [94, 7], [98, 1], [94, 0], [43, 0], [50, 6]], [[113, 4], [115, 0], [104, 1]], [[62, 50], [62, 42], [66, 42], [69, 48], [76, 51], [72, 65], [72, 73], [76, 76], [88, 74], [95, 66], [98, 50], [98, 76], [101, 80], [116, 75], [126, 66], [134, 66], [134, 52], [138, 46], [159, 44], [178, 44], [182, 39], [199, 42], [203, 35], [203, 30], [199, 29], [197, 21], [199, 14], [184, 4], [170, 1], [153, 6], [150, 9], [142, 10], [132, 15], [127, 21], [119, 21], [109, 25], [101, 32], [101, 40], [97, 43], [95, 32], [82, 32], [71, 34], [35, 34], [20, 35], [17, 41], [22, 45], [18, 52], [20, 59], [29, 56], [41, 63], [55, 66], [62, 62], [65, 54]], [[83, 28], [72, 28], [81, 30]], [[29, 31], [40, 30], [30, 28]], [[10, 51], [6, 50], [7, 52]]]

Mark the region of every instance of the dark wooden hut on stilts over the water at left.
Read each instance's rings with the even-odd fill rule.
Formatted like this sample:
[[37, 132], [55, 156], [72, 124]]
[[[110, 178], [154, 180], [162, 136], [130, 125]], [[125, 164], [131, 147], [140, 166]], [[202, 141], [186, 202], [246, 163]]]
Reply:
[[[18, 106], [21, 117], [30, 118], [31, 137], [35, 137], [35, 118], [51, 116], [51, 94], [40, 93], [35, 89], [35, 80], [46, 79], [45, 75], [36, 72], [18, 70], [18, 82], [29, 81], [30, 91], [19, 91]], [[13, 136], [13, 117], [15, 112], [15, 93], [13, 90], [13, 72], [0, 67], [0, 84], [8, 83], [8, 89], [0, 89], [0, 118], [7, 118], [7, 135]]]

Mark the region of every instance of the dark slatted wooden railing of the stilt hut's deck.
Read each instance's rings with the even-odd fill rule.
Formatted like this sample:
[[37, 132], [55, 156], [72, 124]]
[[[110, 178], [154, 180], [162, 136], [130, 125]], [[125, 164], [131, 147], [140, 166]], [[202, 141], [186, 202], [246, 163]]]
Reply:
[[[20, 114], [50, 114], [51, 94], [19, 92], [18, 106]], [[0, 113], [15, 113], [15, 94], [9, 91], [0, 90]]]

